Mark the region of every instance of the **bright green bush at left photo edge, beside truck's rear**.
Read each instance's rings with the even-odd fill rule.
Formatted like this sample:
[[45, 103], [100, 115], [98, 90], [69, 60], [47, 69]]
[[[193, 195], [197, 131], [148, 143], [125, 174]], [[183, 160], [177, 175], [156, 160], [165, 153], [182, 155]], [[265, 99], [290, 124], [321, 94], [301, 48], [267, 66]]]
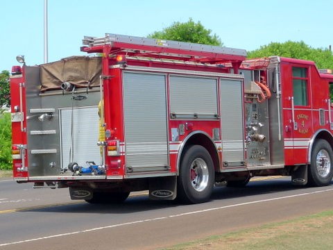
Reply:
[[10, 113], [0, 110], [0, 170], [12, 169]]

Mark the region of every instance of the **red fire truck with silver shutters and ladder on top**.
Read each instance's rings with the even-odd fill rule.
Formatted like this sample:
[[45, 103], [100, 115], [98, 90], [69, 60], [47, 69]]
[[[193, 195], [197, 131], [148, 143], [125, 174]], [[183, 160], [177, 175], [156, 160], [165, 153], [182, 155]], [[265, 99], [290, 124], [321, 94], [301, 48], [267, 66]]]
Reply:
[[14, 179], [71, 199], [199, 203], [214, 185], [333, 176], [333, 75], [313, 62], [106, 34], [75, 56], [12, 68]]

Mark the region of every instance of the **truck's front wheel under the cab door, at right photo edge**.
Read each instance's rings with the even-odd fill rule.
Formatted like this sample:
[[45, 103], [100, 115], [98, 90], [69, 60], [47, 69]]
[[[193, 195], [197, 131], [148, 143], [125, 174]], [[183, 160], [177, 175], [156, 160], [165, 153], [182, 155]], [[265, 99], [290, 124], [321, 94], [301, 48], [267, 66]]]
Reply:
[[326, 140], [317, 140], [311, 152], [309, 165], [309, 185], [321, 187], [329, 185], [333, 177], [333, 151]]

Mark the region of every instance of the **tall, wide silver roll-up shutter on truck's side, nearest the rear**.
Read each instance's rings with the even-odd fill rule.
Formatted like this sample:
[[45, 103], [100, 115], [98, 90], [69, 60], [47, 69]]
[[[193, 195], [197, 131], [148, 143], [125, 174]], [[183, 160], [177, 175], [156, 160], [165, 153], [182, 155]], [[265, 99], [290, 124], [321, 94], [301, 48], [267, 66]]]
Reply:
[[166, 76], [123, 72], [126, 173], [169, 171]]

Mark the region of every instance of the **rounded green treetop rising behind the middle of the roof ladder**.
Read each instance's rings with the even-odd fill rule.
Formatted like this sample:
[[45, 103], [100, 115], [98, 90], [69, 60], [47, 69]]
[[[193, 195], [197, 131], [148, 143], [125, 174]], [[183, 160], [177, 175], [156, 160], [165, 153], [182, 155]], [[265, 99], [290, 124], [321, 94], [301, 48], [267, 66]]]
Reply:
[[212, 35], [210, 29], [205, 28], [200, 22], [189, 19], [188, 22], [173, 22], [171, 26], [155, 31], [148, 35], [149, 38], [173, 40], [180, 42], [194, 42], [198, 44], [210, 44], [222, 46], [219, 36]]

